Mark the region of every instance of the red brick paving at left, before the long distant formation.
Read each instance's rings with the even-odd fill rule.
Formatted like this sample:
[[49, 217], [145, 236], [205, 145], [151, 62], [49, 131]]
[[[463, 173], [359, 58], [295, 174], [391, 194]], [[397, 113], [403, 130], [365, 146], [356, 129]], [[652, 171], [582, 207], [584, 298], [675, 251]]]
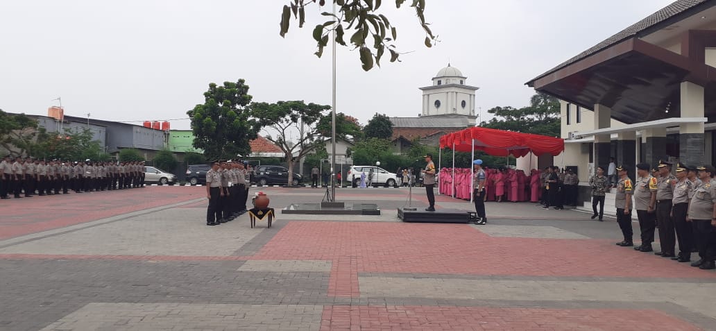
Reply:
[[96, 221], [205, 196], [200, 187], [147, 186], [0, 201], [0, 239]]

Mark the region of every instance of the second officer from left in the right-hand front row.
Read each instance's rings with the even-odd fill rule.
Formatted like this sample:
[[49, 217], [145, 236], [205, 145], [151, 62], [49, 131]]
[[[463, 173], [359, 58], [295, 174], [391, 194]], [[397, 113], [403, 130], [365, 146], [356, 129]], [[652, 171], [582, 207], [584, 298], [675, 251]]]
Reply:
[[637, 185], [634, 187], [634, 206], [637, 208], [642, 244], [634, 247], [637, 251], [654, 251], [654, 230], [657, 228], [654, 204], [657, 202], [657, 178], [649, 173], [649, 163], [637, 164]]

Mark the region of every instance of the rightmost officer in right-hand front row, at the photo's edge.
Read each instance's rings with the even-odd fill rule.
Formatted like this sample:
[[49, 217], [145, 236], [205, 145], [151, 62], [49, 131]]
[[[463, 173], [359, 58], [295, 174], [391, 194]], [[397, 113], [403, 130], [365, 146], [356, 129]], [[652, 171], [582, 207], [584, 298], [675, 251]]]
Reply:
[[711, 165], [698, 167], [702, 184], [697, 186], [689, 204], [689, 218], [697, 229], [696, 244], [699, 259], [691, 264], [700, 269], [716, 269], [716, 181], [713, 177], [716, 169]]

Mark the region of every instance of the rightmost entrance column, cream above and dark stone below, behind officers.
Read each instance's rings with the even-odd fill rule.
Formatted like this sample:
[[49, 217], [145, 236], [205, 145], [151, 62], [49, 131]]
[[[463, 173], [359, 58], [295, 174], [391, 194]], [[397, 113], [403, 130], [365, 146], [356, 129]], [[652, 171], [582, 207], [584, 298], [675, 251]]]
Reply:
[[[704, 117], [704, 87], [681, 83], [681, 117]], [[679, 125], [679, 160], [687, 165], [702, 165], [704, 151], [704, 123]]]

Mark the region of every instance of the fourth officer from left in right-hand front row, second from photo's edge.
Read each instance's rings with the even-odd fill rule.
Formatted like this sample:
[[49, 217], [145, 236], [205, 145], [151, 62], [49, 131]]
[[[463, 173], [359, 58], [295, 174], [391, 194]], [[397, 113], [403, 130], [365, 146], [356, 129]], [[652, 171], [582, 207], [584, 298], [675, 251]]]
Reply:
[[[674, 229], [676, 237], [679, 241], [679, 254], [672, 257], [672, 260], [678, 262], [691, 261], [691, 249], [693, 246], [693, 229], [692, 225], [686, 221], [689, 211], [689, 202], [694, 196], [694, 187], [689, 178], [687, 178], [689, 169], [681, 163], [676, 164], [677, 182], [674, 185], [674, 198], [672, 199], [674, 206], [672, 207], [672, 220], [674, 221]], [[659, 230], [661, 231], [661, 230]]]

